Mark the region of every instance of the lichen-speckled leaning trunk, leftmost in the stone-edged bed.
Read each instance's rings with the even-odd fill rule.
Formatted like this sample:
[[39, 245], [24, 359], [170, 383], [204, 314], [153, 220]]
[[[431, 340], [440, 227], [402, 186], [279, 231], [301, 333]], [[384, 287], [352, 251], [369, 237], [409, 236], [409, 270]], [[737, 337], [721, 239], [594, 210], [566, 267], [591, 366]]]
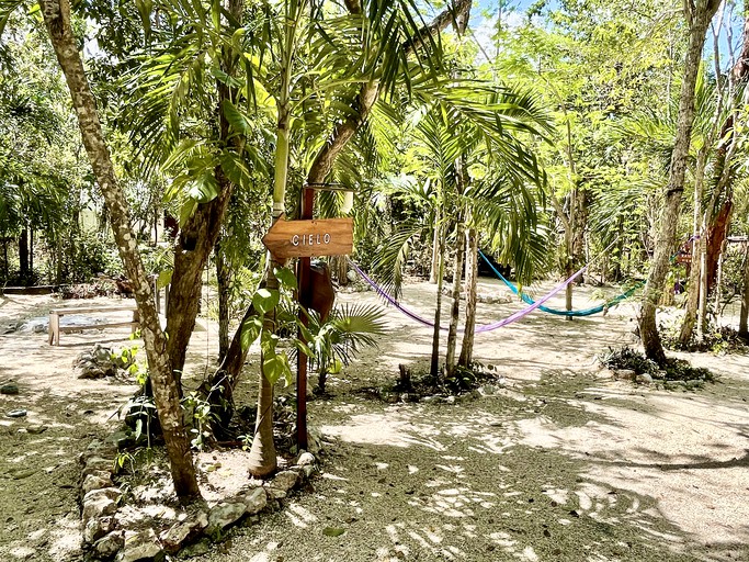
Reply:
[[169, 356], [164, 352], [167, 338], [159, 324], [151, 286], [130, 225], [129, 210], [114, 172], [93, 94], [78, 53], [78, 42], [72, 34], [70, 4], [68, 0], [44, 0], [42, 7], [49, 38], [70, 90], [83, 146], [109, 209], [120, 257], [133, 283], [154, 387], [154, 400], [163, 430], [174, 491], [181, 501], [196, 499], [200, 498], [201, 492], [195, 477], [190, 441], [182, 423], [177, 381]]

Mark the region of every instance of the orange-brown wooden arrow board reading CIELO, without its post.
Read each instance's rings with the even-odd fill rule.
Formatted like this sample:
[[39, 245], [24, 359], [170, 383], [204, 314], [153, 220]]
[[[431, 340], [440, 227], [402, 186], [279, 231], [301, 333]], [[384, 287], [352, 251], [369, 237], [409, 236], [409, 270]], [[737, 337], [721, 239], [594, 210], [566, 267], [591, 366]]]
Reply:
[[285, 221], [282, 215], [263, 244], [279, 259], [342, 256], [353, 249], [353, 218]]

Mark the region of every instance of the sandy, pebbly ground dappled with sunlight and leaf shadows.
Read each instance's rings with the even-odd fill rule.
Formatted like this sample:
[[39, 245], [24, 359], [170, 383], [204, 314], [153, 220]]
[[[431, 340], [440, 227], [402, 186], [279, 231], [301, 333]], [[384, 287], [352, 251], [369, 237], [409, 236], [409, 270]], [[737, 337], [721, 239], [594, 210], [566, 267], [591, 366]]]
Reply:
[[[483, 280], [479, 293], [507, 290]], [[577, 290], [576, 306], [594, 293]], [[404, 303], [429, 317], [434, 296], [410, 284]], [[339, 300], [377, 302], [372, 292]], [[112, 430], [135, 389], [71, 370], [93, 342], [127, 344], [127, 329], [64, 334], [60, 347], [46, 333], [4, 333], [55, 303], [0, 297], [0, 383], [20, 387], [0, 396], [1, 561], [82, 558], [77, 457]], [[522, 306], [480, 304], [478, 322]], [[496, 393], [386, 404], [358, 391], [395, 380], [399, 363], [424, 369], [431, 349], [429, 329], [387, 308], [379, 347], [309, 404], [332, 443], [314, 491], [194, 560], [749, 561], [749, 359], [681, 353], [720, 378], [694, 392], [614, 381], [595, 357], [637, 345], [635, 313], [633, 303], [574, 322], [533, 313], [476, 338], [476, 359], [504, 379]], [[213, 367], [216, 333], [203, 324], [193, 378]], [[257, 358], [248, 370], [241, 394], [254, 396]], [[27, 413], [7, 417], [18, 409]], [[231, 477], [246, 475], [235, 464]]]

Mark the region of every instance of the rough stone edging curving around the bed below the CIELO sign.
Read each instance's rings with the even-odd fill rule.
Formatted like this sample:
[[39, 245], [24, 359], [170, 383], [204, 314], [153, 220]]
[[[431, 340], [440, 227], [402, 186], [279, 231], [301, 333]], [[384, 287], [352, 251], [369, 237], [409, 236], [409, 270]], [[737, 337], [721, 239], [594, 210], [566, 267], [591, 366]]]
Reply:
[[315, 456], [303, 452], [294, 465], [276, 473], [272, 480], [259, 481], [257, 487], [213, 507], [193, 507], [157, 536], [154, 529], [136, 532], [122, 528], [116, 514], [123, 494], [113, 481], [116, 456], [116, 447], [99, 443], [79, 459], [83, 464], [80, 492], [87, 560], [158, 561], [185, 547], [193, 549], [194, 555], [207, 552], [209, 542], [219, 539], [229, 527], [247, 518], [257, 520], [260, 513], [280, 509], [281, 502], [317, 471]]

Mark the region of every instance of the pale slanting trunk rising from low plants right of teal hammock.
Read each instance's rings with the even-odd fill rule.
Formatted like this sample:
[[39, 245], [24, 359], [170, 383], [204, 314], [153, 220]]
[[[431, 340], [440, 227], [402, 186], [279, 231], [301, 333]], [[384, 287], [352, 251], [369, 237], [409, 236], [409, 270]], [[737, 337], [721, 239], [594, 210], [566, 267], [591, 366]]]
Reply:
[[697, 0], [692, 7], [689, 2], [684, 2], [689, 46], [684, 60], [684, 79], [679, 94], [677, 135], [671, 154], [671, 168], [659, 221], [660, 226], [656, 237], [655, 254], [645, 284], [639, 314], [639, 333], [645, 355], [660, 366], [665, 366], [667, 359], [656, 325], [656, 307], [662, 294], [669, 270], [669, 257], [676, 243], [681, 198], [684, 191], [684, 172], [694, 120], [694, 89], [700, 60], [702, 59], [702, 48], [705, 44], [705, 33], [719, 3], [719, 0]]

